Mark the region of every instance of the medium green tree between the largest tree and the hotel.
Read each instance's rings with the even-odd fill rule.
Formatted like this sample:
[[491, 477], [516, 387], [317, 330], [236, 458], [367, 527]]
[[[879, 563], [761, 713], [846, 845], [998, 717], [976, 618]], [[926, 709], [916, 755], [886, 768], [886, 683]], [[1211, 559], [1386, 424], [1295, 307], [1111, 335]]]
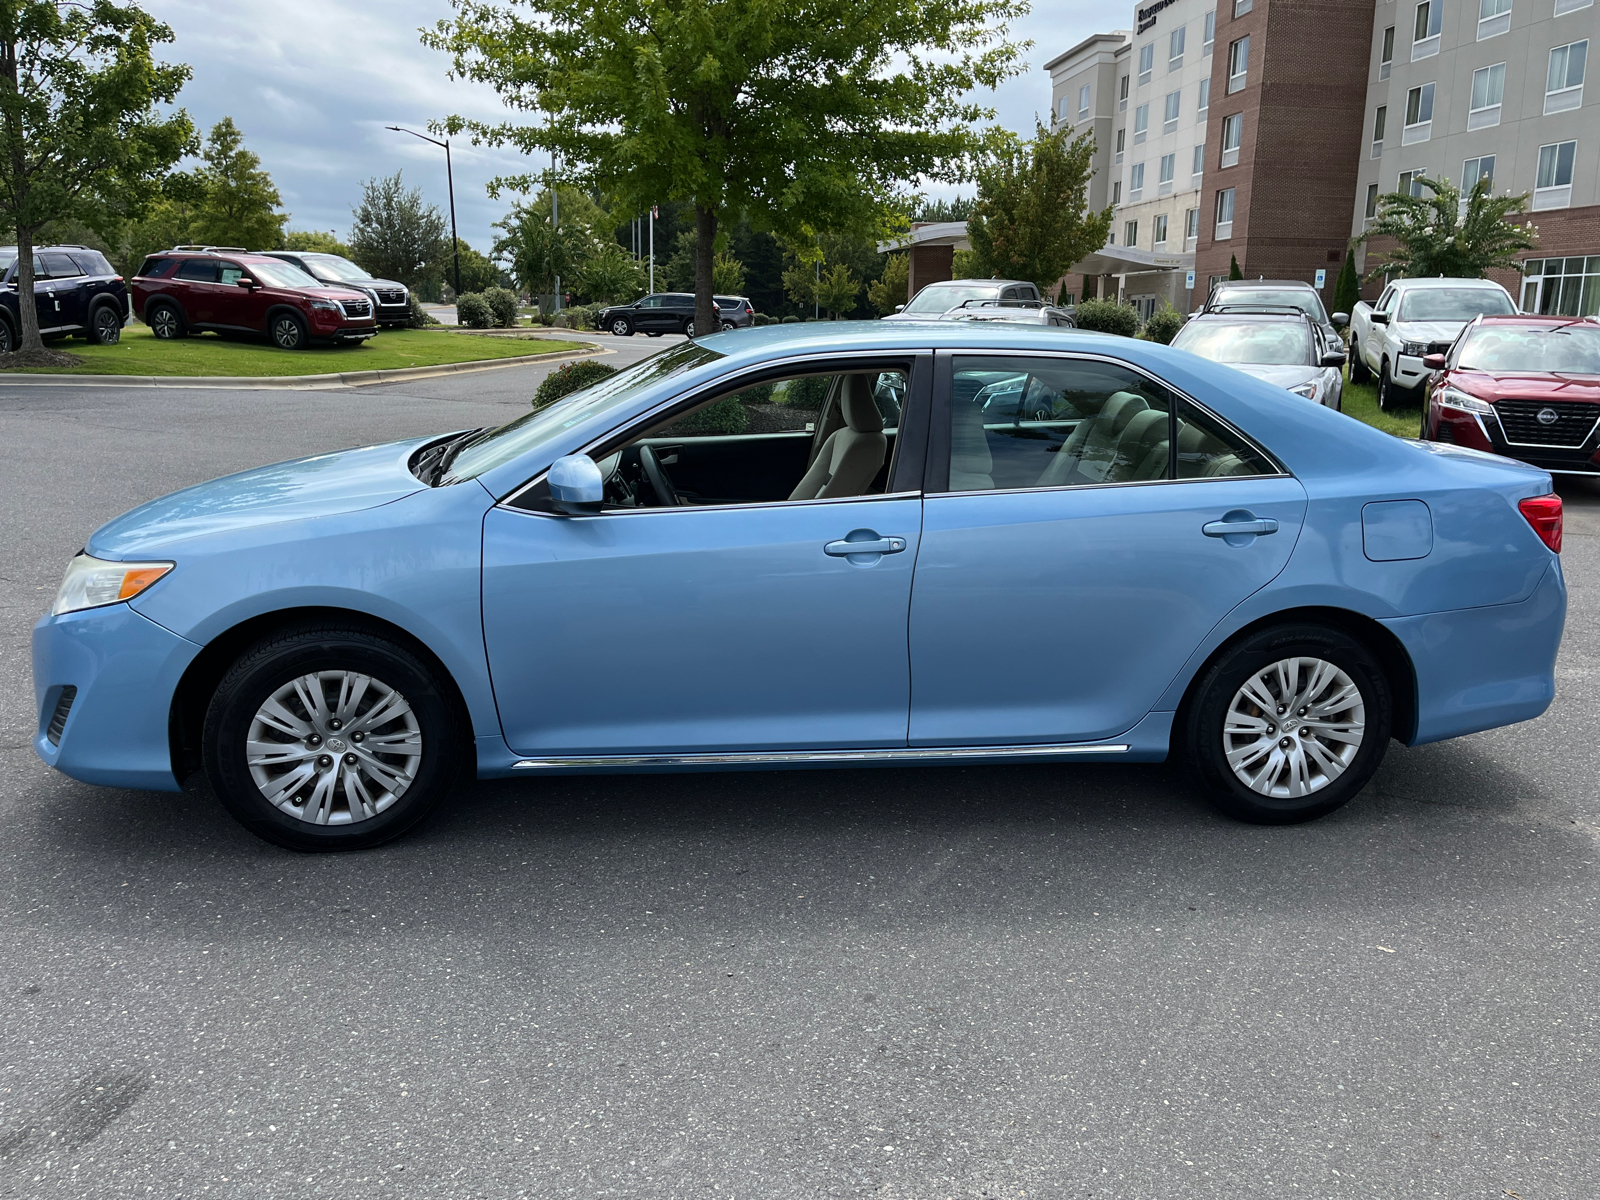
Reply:
[[1032, 142], [995, 138], [966, 219], [981, 275], [1032, 280], [1048, 293], [1074, 262], [1106, 245], [1112, 210], [1088, 206], [1094, 136], [1070, 134], [1070, 126], [1050, 131], [1035, 122]]

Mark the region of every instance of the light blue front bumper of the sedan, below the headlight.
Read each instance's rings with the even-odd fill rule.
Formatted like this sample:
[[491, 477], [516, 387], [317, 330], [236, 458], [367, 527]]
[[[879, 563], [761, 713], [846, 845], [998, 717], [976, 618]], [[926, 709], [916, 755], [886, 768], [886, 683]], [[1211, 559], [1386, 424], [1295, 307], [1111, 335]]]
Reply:
[[[128, 605], [43, 618], [34, 626], [38, 757], [88, 784], [179, 790], [168, 717], [178, 682], [198, 653]], [[53, 731], [69, 686], [77, 694], [66, 723]]]

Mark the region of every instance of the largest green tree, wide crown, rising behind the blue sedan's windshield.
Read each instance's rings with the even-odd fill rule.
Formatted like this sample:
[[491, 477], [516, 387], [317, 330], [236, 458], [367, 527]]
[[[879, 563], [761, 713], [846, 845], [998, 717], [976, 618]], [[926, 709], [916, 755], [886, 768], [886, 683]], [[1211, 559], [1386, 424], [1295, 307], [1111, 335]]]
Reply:
[[[526, 10], [526, 11], [523, 11]], [[912, 179], [957, 179], [1019, 74], [1026, 0], [461, 0], [424, 34], [531, 125], [450, 117], [474, 141], [555, 150], [622, 211], [694, 208], [694, 312], [712, 325], [717, 234], [749, 214], [803, 235], [869, 230]], [[501, 179], [494, 186], [522, 186]]]

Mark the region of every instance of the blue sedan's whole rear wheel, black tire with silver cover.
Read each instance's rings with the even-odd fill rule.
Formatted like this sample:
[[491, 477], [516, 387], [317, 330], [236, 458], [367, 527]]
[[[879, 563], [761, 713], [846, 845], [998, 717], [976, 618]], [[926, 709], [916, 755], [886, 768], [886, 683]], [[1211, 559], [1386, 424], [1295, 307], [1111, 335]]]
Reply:
[[[1325, 712], [1342, 720], [1301, 723], [1307, 707], [1315, 717], [1318, 701], [1347, 688], [1354, 699]], [[1296, 698], [1310, 704], [1294, 706]], [[1219, 810], [1288, 826], [1331, 813], [1366, 786], [1389, 749], [1392, 718], [1389, 680], [1366, 646], [1338, 629], [1294, 624], [1264, 629], [1222, 654], [1195, 688], [1181, 733]]]

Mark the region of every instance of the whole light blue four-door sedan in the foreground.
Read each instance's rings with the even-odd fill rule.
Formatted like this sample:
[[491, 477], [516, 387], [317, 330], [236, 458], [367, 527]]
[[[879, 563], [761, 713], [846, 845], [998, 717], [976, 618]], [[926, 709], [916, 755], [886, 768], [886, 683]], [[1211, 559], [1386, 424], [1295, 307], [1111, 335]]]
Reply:
[[[997, 379], [1027, 403], [987, 414]], [[1152, 342], [720, 333], [102, 526], [34, 630], [35, 747], [205, 770], [302, 850], [392, 838], [461, 771], [1179, 752], [1227, 813], [1304, 821], [1390, 738], [1549, 706], [1549, 493]]]

